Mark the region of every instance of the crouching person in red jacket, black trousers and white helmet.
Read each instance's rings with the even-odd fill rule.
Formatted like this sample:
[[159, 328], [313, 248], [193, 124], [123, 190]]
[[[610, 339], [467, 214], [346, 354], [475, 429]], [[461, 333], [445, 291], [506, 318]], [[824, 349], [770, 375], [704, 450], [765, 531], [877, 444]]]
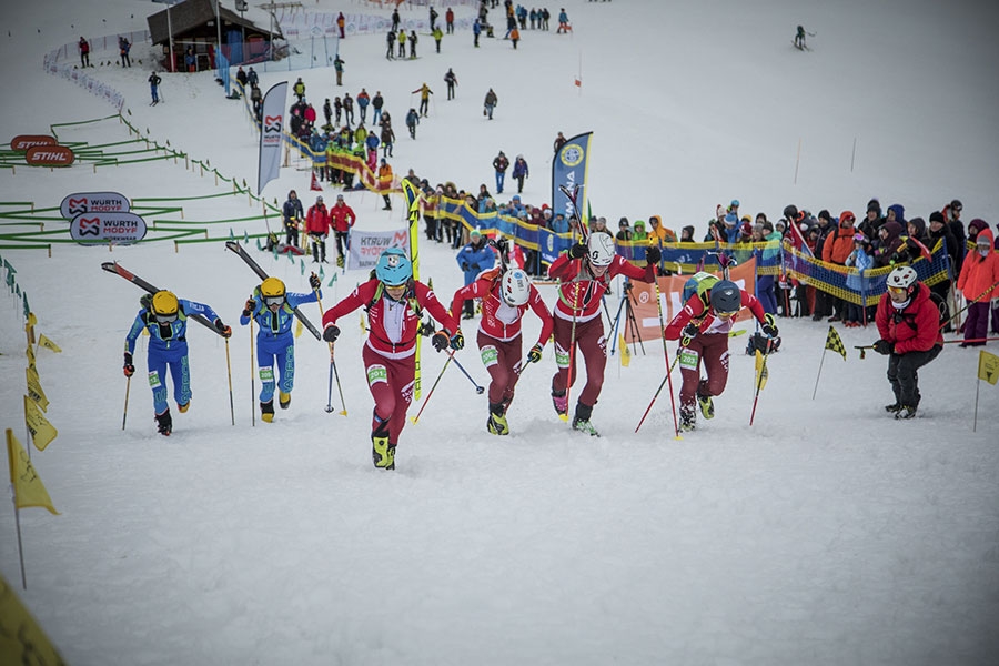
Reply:
[[888, 292], [878, 302], [875, 322], [881, 339], [874, 351], [888, 356], [888, 383], [895, 393], [885, 410], [896, 418], [911, 418], [920, 398], [918, 371], [944, 349], [940, 311], [912, 266], [888, 273]]

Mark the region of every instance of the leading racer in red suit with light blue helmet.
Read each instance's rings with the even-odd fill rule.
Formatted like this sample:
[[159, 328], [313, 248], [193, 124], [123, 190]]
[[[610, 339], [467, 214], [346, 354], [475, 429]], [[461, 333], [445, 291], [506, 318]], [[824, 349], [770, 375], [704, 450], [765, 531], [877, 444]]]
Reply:
[[326, 311], [323, 340], [335, 343], [340, 335], [336, 322], [359, 307], [367, 310], [369, 335], [361, 357], [375, 401], [371, 418], [372, 460], [375, 467], [394, 470], [395, 447], [413, 400], [416, 335], [423, 311], [443, 326], [431, 340], [438, 352], [448, 346], [460, 350], [465, 346], [465, 339], [434, 292], [413, 280], [413, 264], [400, 248], [382, 252], [371, 280]]

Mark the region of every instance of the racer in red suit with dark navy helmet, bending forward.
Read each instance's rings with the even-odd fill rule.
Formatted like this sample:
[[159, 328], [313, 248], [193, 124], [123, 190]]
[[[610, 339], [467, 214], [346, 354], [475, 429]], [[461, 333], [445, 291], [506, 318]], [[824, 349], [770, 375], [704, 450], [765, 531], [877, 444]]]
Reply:
[[[722, 395], [728, 383], [728, 333], [740, 309], [749, 309], [760, 323], [763, 333], [770, 340], [777, 337], [776, 317], [764, 312], [763, 304], [756, 296], [739, 289], [735, 282], [718, 280], [709, 273], [700, 273], [695, 279], [696, 290], [687, 297], [683, 310], [676, 313], [663, 334], [666, 340], [680, 341], [682, 431], [693, 431], [696, 427], [695, 404], [700, 406], [705, 418], [715, 417], [712, 397]], [[706, 375], [704, 380], [700, 379], [702, 362]]]

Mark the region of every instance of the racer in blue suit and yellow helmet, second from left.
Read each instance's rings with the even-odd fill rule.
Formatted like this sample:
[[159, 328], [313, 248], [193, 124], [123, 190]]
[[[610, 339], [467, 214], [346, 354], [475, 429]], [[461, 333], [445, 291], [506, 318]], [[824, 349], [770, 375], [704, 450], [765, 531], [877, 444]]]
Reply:
[[[278, 386], [278, 404], [282, 410], [291, 405], [291, 392], [295, 384], [295, 336], [292, 322], [295, 307], [314, 303], [323, 297], [319, 275], [309, 276], [307, 294], [289, 293], [284, 282], [268, 278], [246, 299], [240, 324], [245, 326], [255, 321], [256, 367], [260, 373], [260, 417], [266, 423], [274, 421], [274, 387]], [[281, 381], [275, 381], [275, 374]]]

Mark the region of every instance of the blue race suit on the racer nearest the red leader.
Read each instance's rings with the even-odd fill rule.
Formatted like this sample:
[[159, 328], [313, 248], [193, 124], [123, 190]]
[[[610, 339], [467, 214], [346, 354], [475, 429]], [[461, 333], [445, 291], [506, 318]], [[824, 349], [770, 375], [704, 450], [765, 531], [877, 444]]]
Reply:
[[[319, 294], [322, 297], [322, 292]], [[260, 402], [271, 402], [274, 398], [274, 369], [279, 369], [282, 393], [291, 393], [295, 383], [295, 337], [292, 334], [294, 322], [294, 309], [303, 303], [314, 303], [316, 293], [285, 294], [284, 304], [278, 312], [271, 312], [264, 307], [260, 295], [260, 287], [253, 291], [253, 313], [250, 316], [240, 315], [240, 324], [245, 326], [250, 317], [256, 322], [260, 330], [256, 333], [256, 366], [260, 372]]]

